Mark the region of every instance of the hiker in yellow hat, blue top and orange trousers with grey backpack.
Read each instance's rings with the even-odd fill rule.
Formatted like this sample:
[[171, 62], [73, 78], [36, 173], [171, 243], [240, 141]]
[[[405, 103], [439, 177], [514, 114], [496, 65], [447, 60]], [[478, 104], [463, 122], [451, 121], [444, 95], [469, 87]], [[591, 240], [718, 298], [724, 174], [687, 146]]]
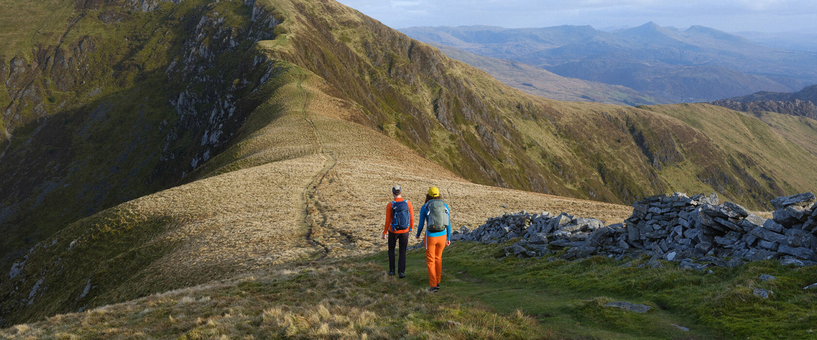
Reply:
[[443, 248], [451, 244], [451, 212], [440, 196], [440, 189], [428, 188], [426, 203], [420, 208], [420, 223], [417, 225], [417, 238], [420, 238], [423, 224], [426, 228], [426, 267], [428, 267], [428, 289], [431, 292], [440, 290], [440, 277], [443, 272]]

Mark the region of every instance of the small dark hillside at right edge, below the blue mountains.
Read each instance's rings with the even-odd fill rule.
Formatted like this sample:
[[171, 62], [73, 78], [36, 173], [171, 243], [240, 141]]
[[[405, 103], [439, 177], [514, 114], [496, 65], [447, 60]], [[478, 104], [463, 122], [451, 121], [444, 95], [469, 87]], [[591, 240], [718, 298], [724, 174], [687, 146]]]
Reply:
[[767, 111], [817, 119], [817, 85], [794, 93], [761, 91], [729, 99], [716, 100], [712, 105], [744, 112]]

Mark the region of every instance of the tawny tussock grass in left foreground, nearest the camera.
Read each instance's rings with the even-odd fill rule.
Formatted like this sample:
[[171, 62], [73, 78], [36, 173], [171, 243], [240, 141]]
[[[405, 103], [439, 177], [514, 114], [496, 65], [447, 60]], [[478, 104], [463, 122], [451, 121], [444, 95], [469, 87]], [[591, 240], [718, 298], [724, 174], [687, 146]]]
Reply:
[[373, 263], [302, 267], [16, 325], [31, 338], [539, 338], [515, 311], [385, 276]]

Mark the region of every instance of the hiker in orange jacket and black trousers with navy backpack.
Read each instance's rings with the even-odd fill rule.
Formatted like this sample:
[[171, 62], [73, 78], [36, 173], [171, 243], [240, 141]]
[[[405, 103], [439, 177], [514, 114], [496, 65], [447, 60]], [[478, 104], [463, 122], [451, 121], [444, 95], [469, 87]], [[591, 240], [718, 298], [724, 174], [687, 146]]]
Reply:
[[406, 277], [406, 247], [408, 246], [408, 232], [414, 225], [414, 209], [411, 201], [403, 199], [403, 189], [400, 185], [391, 188], [395, 200], [386, 205], [386, 227], [383, 228], [383, 239], [389, 238], [389, 275], [395, 275], [395, 244], [400, 241], [400, 260], [397, 272], [400, 278]]

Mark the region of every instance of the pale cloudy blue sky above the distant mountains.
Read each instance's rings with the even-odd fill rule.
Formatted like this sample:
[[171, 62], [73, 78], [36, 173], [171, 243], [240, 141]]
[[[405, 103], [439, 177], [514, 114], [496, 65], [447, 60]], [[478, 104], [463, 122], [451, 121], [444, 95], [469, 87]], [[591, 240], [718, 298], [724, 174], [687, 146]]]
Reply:
[[817, 33], [817, 0], [339, 0], [393, 29], [485, 24], [506, 28], [589, 24], [596, 29], [653, 21], [726, 32]]

